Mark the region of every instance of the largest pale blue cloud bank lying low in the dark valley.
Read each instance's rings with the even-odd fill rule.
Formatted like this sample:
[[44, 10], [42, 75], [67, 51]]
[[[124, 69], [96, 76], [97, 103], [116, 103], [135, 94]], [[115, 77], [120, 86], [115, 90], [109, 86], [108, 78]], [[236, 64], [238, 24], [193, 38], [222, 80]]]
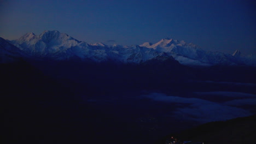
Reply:
[[[236, 97], [237, 96], [238, 95], [236, 95]], [[226, 119], [252, 115], [252, 113], [248, 110], [244, 110], [233, 105], [242, 105], [248, 102], [249, 100], [255, 101], [255, 99], [243, 99], [232, 100], [226, 103], [215, 103], [212, 101], [203, 100], [199, 98], [174, 97], [167, 96], [161, 93], [152, 93], [148, 95], [143, 95], [143, 97], [155, 101], [162, 101], [164, 103], [184, 104], [183, 107], [177, 106], [176, 110], [172, 112], [174, 116], [183, 117], [184, 119], [190, 119], [201, 123], [212, 121], [224, 121]]]

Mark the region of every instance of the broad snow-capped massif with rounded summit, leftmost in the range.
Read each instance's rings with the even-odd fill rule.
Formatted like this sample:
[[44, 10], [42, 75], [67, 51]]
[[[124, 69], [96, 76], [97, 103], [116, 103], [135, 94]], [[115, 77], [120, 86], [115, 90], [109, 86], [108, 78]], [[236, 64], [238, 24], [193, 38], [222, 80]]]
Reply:
[[27, 52], [28, 55], [45, 57], [66, 51], [82, 42], [59, 31], [44, 31], [39, 35], [27, 33], [20, 39], [11, 40], [10, 43]]

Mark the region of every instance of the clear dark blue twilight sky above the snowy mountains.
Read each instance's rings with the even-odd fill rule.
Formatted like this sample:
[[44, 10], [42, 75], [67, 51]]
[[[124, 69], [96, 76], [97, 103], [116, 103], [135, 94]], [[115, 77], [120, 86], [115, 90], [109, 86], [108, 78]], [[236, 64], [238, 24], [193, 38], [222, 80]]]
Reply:
[[0, 1], [0, 37], [58, 30], [88, 43], [185, 40], [202, 49], [256, 52], [254, 1]]

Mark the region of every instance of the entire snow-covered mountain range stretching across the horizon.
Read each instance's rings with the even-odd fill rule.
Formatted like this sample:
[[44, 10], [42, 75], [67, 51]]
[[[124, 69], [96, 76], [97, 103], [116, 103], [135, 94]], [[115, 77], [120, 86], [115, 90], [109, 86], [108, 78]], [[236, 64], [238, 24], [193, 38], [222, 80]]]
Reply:
[[256, 65], [256, 56], [242, 56], [239, 50], [233, 55], [211, 52], [185, 41], [161, 39], [158, 43], [141, 45], [88, 44], [59, 31], [44, 31], [36, 35], [27, 33], [16, 40], [0, 39], [1, 63], [19, 57], [50, 59], [55, 61], [93, 61], [116, 63], [143, 63], [150, 59], [171, 58], [183, 65]]

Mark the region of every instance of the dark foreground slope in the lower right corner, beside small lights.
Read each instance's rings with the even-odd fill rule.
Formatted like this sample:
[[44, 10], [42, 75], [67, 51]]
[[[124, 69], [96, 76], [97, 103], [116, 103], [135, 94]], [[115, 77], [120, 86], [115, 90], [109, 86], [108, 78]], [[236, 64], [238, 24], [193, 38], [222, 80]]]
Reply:
[[[179, 140], [206, 144], [255, 143], [256, 115], [202, 124], [180, 134], [166, 136], [166, 139], [171, 136], [175, 136]], [[165, 140], [159, 141], [159, 143], [165, 143]]]

